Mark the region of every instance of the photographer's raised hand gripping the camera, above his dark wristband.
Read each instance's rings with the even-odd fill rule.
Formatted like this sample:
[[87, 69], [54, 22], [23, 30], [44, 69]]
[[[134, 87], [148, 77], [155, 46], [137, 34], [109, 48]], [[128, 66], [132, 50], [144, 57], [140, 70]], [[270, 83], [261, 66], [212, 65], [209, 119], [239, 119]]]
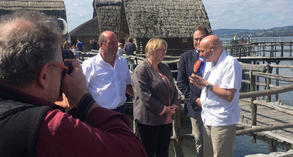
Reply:
[[65, 75], [62, 79], [62, 89], [66, 97], [78, 107], [81, 98], [88, 93], [86, 86], [86, 78], [80, 68], [79, 60], [65, 59], [64, 62], [69, 62], [72, 65], [72, 73]]

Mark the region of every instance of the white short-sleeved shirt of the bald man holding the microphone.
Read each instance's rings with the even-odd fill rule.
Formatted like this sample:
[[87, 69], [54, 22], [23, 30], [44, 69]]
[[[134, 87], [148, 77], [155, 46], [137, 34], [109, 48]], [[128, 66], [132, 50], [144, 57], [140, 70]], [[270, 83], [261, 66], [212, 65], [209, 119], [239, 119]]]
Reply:
[[242, 79], [242, 70], [237, 59], [223, 50], [215, 66], [212, 62], [206, 63], [204, 78], [220, 88], [237, 89], [232, 102], [228, 102], [203, 87], [201, 103], [204, 124], [210, 126], [236, 124], [240, 119], [239, 89]]

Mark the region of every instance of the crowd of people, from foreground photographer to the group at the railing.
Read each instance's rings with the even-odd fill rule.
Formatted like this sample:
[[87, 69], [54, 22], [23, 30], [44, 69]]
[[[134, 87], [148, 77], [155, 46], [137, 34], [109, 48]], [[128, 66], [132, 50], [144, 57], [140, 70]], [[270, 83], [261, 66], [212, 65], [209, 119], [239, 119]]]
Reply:
[[[111, 31], [92, 40], [101, 50], [80, 65], [56, 21], [43, 13], [16, 11], [2, 17], [0, 28], [1, 156], [169, 155], [180, 104], [172, 72], [162, 62], [165, 40], [150, 39], [145, 60], [134, 69], [123, 57], [137, 50], [133, 39], [123, 46]], [[77, 41], [73, 47], [84, 51]], [[177, 85], [196, 156], [233, 156], [240, 64], [203, 25], [194, 30], [193, 46], [180, 56]], [[197, 60], [205, 66], [195, 74]], [[140, 138], [125, 116], [126, 93], [134, 97]]]

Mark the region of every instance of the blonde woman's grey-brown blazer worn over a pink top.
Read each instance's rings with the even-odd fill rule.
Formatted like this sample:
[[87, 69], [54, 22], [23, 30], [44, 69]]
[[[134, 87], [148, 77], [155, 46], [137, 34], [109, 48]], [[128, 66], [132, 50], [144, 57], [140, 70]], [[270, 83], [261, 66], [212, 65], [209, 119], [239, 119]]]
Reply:
[[[178, 106], [178, 90], [175, 86], [172, 72], [168, 65], [160, 62], [158, 65], [167, 78], [172, 90], [171, 104]], [[167, 115], [159, 115], [164, 106], [169, 105], [169, 92], [161, 76], [153, 69], [148, 59], [139, 64], [133, 73], [133, 116], [137, 123], [146, 125], [161, 125]], [[174, 119], [174, 117], [172, 116]]]

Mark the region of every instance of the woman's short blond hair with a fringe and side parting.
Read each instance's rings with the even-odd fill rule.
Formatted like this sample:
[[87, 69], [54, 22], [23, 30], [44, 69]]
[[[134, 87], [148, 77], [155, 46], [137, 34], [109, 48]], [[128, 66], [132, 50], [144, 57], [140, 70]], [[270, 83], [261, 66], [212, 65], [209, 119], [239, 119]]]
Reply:
[[165, 45], [165, 48], [167, 50], [167, 42], [161, 38], [152, 38], [148, 41], [147, 46], [145, 46], [145, 56], [149, 57], [151, 52], [156, 51], [159, 49], [162, 44]]

